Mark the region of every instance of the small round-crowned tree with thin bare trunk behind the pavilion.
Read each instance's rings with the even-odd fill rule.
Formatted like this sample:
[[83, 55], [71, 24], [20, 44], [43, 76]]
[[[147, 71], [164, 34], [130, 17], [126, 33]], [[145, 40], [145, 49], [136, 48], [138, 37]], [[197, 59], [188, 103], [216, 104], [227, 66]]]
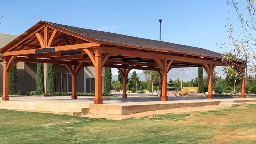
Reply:
[[143, 70], [143, 73], [145, 75], [146, 81], [148, 81], [152, 85], [152, 95], [153, 95], [154, 83], [157, 83], [160, 80], [159, 74], [157, 71], [149, 71], [149, 70]]

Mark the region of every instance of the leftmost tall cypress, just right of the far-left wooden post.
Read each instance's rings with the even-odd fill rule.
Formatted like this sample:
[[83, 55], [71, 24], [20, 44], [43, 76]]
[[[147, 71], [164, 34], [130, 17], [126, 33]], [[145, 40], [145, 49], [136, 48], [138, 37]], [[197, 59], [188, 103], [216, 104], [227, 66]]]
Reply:
[[14, 65], [9, 73], [9, 94], [13, 95], [16, 90], [17, 82], [17, 65]]

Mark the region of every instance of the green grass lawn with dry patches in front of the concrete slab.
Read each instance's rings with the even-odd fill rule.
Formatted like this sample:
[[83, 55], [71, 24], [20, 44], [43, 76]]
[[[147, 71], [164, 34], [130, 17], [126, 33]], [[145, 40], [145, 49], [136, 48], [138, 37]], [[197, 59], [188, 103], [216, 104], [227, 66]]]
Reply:
[[0, 110], [0, 143], [256, 143], [256, 105], [106, 120]]

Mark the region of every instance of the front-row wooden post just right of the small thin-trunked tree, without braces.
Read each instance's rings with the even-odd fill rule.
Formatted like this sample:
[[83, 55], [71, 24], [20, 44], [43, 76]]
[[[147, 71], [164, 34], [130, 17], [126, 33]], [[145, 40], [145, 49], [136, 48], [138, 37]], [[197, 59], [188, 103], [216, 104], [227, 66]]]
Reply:
[[162, 60], [163, 70], [161, 71], [161, 101], [168, 101], [167, 96], [167, 59]]

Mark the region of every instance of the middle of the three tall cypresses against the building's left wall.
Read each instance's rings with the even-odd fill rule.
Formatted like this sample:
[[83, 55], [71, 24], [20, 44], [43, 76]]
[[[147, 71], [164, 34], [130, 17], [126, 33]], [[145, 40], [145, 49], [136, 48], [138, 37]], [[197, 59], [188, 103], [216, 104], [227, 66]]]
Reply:
[[42, 94], [45, 91], [43, 86], [43, 64], [37, 63], [37, 93]]

